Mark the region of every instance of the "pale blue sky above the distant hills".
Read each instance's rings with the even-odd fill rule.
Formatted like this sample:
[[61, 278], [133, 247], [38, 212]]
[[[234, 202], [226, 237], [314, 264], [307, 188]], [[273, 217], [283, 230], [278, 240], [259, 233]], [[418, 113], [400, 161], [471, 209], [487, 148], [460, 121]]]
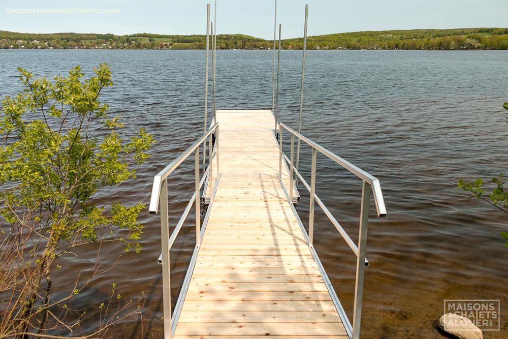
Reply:
[[[203, 34], [213, 1], [9, 1], [0, 0], [0, 30], [23, 33]], [[282, 38], [358, 30], [508, 27], [508, 0], [483, 1], [277, 1]], [[218, 0], [217, 33], [273, 38], [273, 0]], [[119, 13], [7, 13], [13, 10], [114, 9]]]

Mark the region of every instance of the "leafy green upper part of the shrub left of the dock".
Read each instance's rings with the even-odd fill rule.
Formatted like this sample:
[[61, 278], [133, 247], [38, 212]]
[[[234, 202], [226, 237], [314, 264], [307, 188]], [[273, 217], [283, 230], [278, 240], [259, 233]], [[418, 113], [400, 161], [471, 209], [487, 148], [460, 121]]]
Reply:
[[24, 91], [3, 100], [0, 118], [0, 215], [12, 227], [39, 228], [55, 254], [63, 242], [95, 241], [113, 227], [128, 231], [120, 238], [127, 250], [139, 251], [144, 205], [106, 210], [90, 202], [100, 189], [134, 178], [131, 163], [142, 164], [153, 143], [143, 129], [124, 142], [120, 117], [108, 119], [99, 97], [113, 85], [110, 69], [103, 64], [83, 80], [78, 66], [54, 82], [18, 70]]

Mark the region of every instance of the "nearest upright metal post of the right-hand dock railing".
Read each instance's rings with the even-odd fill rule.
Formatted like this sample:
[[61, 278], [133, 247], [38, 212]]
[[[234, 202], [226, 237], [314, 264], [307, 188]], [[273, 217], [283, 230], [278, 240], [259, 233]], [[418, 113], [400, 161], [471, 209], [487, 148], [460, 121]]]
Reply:
[[355, 308], [353, 310], [353, 339], [360, 338], [362, 318], [363, 277], [365, 274], [365, 250], [369, 224], [370, 183], [363, 180], [362, 207], [360, 211], [360, 233], [358, 235], [358, 259], [356, 262]]

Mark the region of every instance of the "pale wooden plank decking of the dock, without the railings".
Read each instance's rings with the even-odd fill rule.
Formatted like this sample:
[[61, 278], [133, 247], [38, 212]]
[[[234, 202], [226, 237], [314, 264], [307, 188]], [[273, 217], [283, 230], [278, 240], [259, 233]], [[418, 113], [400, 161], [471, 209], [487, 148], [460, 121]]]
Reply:
[[217, 120], [221, 176], [174, 338], [347, 338], [277, 178], [271, 111]]

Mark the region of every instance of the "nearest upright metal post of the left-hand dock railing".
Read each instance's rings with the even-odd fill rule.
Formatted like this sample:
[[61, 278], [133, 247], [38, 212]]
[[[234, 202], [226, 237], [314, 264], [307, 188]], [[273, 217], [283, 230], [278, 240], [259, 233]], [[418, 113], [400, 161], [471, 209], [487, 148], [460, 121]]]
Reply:
[[[199, 162], [198, 162], [199, 170]], [[164, 307], [164, 339], [171, 339], [171, 279], [169, 272], [168, 180], [161, 187], [162, 294]]]

